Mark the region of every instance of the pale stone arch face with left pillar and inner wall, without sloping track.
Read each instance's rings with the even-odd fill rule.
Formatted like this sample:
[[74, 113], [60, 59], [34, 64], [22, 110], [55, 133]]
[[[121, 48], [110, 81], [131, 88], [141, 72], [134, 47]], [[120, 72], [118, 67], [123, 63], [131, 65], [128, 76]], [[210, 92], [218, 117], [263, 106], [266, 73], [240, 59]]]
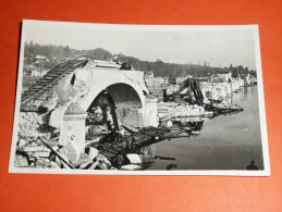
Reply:
[[[146, 108], [147, 87], [140, 77], [140, 72], [134, 71], [97, 71], [77, 70], [70, 78], [83, 82], [86, 87], [84, 93], [76, 98], [69, 107], [77, 107], [77, 113], [66, 110], [63, 117], [62, 142], [65, 144], [75, 135], [77, 141], [85, 144], [86, 116], [88, 108], [101, 92], [109, 92], [115, 105], [115, 113], [122, 124], [144, 126], [144, 111]], [[75, 86], [75, 82], [71, 80]], [[70, 112], [71, 111], [71, 112]]]

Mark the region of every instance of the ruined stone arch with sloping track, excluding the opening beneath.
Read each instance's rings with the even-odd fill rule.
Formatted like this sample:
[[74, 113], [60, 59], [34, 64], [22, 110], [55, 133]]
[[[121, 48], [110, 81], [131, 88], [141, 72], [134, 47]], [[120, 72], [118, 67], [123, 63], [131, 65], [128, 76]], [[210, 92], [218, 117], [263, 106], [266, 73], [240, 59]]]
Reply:
[[[56, 66], [22, 95], [20, 126], [24, 128], [23, 134], [26, 135], [30, 127], [34, 127], [32, 136], [48, 137], [59, 132], [61, 145], [75, 136], [83, 147], [87, 110], [103, 90], [111, 95], [117, 110], [133, 109], [133, 114], [127, 113], [131, 110], [121, 112], [125, 114], [125, 119], [124, 115], [120, 116], [123, 122], [131, 122], [136, 115], [139, 120], [138, 124], [133, 123], [134, 126], [157, 126], [157, 100], [147, 96], [143, 72], [120, 70], [117, 63], [83, 57]], [[46, 112], [41, 113], [41, 107]], [[35, 114], [36, 119], [40, 117], [36, 125]], [[25, 119], [25, 115], [30, 119]], [[45, 132], [36, 128], [38, 126], [42, 126]]]

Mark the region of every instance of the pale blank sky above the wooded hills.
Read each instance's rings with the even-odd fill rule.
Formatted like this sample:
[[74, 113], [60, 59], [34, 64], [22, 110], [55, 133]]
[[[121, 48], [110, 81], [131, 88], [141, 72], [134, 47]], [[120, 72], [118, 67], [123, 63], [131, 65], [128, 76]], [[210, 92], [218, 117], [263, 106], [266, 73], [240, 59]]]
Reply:
[[256, 68], [254, 25], [149, 26], [24, 21], [24, 41], [103, 48], [144, 61]]

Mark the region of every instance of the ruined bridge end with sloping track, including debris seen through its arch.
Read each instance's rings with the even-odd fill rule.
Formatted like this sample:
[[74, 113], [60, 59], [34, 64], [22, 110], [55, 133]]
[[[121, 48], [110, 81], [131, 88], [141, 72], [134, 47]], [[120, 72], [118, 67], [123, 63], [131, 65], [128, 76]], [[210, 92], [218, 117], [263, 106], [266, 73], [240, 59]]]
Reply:
[[121, 125], [157, 126], [157, 99], [148, 96], [144, 73], [127, 67], [89, 57], [56, 66], [22, 95], [20, 146], [44, 137], [41, 145], [72, 144], [81, 155], [97, 129], [106, 134]]

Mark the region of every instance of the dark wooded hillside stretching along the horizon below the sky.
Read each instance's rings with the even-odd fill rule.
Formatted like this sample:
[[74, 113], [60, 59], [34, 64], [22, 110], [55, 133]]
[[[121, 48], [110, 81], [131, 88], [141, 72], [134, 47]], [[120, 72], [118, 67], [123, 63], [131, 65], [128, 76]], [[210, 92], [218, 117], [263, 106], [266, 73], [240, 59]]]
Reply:
[[[25, 65], [33, 64], [36, 60], [36, 55], [45, 55], [49, 59], [49, 62], [40, 64], [42, 68], [51, 68], [54, 65], [66, 59], [73, 59], [79, 55], [89, 55], [99, 60], [112, 60], [113, 54], [102, 48], [91, 49], [91, 50], [76, 50], [70, 49], [69, 46], [53, 46], [53, 45], [44, 45], [25, 43]], [[247, 74], [248, 68], [243, 66], [233, 67], [232, 64], [230, 67], [210, 67], [209, 65], [196, 65], [196, 64], [176, 64], [176, 63], [165, 63], [161, 60], [155, 62], [142, 61], [134, 57], [124, 55], [119, 53], [121, 62], [130, 63], [135, 70], [139, 71], [152, 71], [155, 76], [207, 76], [212, 73], [221, 73], [232, 71], [233, 76], [237, 74]], [[255, 73], [255, 71], [253, 71]]]

